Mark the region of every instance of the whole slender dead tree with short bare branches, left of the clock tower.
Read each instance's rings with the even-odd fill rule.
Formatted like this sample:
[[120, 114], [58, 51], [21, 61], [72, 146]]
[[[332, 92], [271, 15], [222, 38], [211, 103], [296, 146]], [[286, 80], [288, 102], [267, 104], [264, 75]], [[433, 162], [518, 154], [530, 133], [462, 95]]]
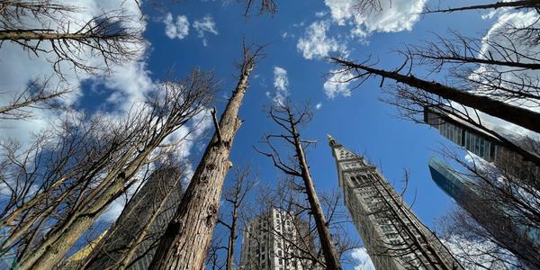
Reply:
[[[311, 212], [317, 224], [320, 246], [325, 257], [326, 267], [327, 269], [341, 269], [338, 252], [336, 247], [334, 247], [328, 222], [320, 207], [307, 157], [303, 149], [306, 145], [309, 146], [314, 143], [314, 141], [302, 139], [300, 130], [298, 130], [298, 125], [305, 124], [311, 120], [311, 112], [308, 109], [304, 109], [302, 112], [295, 112], [290, 103], [277, 103], [270, 107], [268, 114], [272, 121], [275, 121], [277, 125], [284, 129], [284, 133], [266, 135], [265, 143], [270, 149], [270, 152], [257, 151], [266, 157], [270, 157], [274, 162], [274, 166], [283, 171], [284, 174], [302, 178], [305, 192], [310, 202]], [[287, 161], [284, 161], [280, 157], [279, 152], [273, 144], [273, 140], [275, 139], [282, 139], [286, 144], [293, 147], [294, 155], [290, 158], [292, 164], [287, 164]]]

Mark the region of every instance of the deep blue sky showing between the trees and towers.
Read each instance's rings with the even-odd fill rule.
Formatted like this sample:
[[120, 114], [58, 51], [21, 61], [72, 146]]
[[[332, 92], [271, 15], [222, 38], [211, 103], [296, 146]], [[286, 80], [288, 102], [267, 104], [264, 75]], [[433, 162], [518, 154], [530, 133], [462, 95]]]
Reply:
[[[85, 0], [81, 4], [92, 6], [89, 10], [95, 12], [107, 10], [122, 1], [105, 2]], [[482, 37], [497, 22], [499, 14], [485, 19], [481, 16], [487, 12], [418, 16], [426, 4], [437, 3], [392, 0], [392, 7], [389, 7], [383, 0], [386, 8], [382, 14], [358, 18], [339, 9], [353, 1], [294, 0], [277, 1], [278, 12], [274, 16], [263, 14], [245, 18], [243, 7], [232, 0], [176, 2], [167, 3], [160, 9], [150, 8], [143, 2], [148, 16], [144, 32], [148, 43], [144, 53], [137, 61], [116, 68], [110, 75], [74, 76], [71, 79], [80, 84], [80, 88], [68, 102], [86, 112], [121, 112], [165, 76], [181, 77], [191, 68], [201, 67], [202, 70], [213, 70], [220, 80], [217, 107], [221, 111], [225, 104], [223, 97], [237, 83], [233, 63], [240, 57], [241, 39], [245, 38], [247, 43], [266, 44], [266, 58], [252, 74], [240, 110], [240, 118], [245, 122], [234, 142], [233, 163], [238, 166], [250, 163], [258, 171], [262, 184], [275, 183], [279, 173], [266, 157], [258, 155], [252, 148], [263, 134], [275, 130], [275, 125], [266, 118], [263, 106], [271, 104], [276, 95], [288, 96], [295, 103], [310, 102], [314, 118], [302, 130], [302, 137], [319, 141], [316, 148], [308, 152], [317, 189], [328, 191], [338, 187], [334, 159], [326, 140], [326, 135], [331, 134], [347, 148], [365, 153], [391, 182], [399, 182], [403, 169], [409, 169], [410, 190], [406, 198], [410, 202], [417, 193], [413, 210], [420, 220], [433, 228], [434, 218], [444, 214], [452, 202], [431, 181], [428, 157], [437, 155], [434, 150], [441, 145], [452, 144], [437, 130], [399, 119], [392, 105], [379, 101], [383, 96], [379, 80], [370, 80], [355, 90], [350, 89], [352, 85], [332, 85], [329, 72], [336, 67], [324, 57], [346, 54], [349, 59], [361, 60], [372, 55], [380, 59], [379, 67], [397, 67], [402, 58], [392, 50], [401, 49], [403, 44], [420, 44], [433, 38], [434, 34], [446, 35], [449, 29]], [[468, 1], [453, 1], [452, 4], [468, 4]], [[130, 12], [138, 13], [132, 4], [128, 5]], [[28, 55], [19, 50], [3, 49], [0, 56], [4, 60], [0, 62], [0, 68], [4, 75], [0, 77], [4, 86], [23, 85], [23, 78], [10, 80], [17, 70], [23, 73], [29, 65], [45, 65], [42, 58], [27, 60]], [[13, 54], [24, 58], [23, 63], [10, 62]], [[41, 68], [34, 73], [38, 72], [47, 72], [47, 69]], [[418, 75], [424, 75], [423, 71], [420, 70]], [[31, 131], [48, 125], [49, 121], [43, 118], [47, 118], [49, 112], [39, 113], [41, 119], [12, 123], [12, 128], [2, 132], [24, 139]], [[193, 166], [196, 166], [207, 139], [208, 136], [185, 148], [185, 155], [192, 160]]]

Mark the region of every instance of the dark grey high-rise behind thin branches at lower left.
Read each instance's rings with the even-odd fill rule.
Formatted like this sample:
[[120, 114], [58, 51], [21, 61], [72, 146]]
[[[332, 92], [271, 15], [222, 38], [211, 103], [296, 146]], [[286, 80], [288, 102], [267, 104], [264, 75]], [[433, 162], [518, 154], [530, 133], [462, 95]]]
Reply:
[[[147, 180], [138, 193], [121, 211], [103, 239], [88, 257], [85, 269], [113, 269], [133, 245], [148, 222], [152, 222], [148, 235], [138, 245], [134, 259], [128, 269], [148, 269], [156, 252], [159, 238], [173, 218], [182, 200], [180, 173], [175, 167], [158, 169]], [[152, 217], [157, 213], [154, 220]], [[85, 259], [86, 260], [86, 259]]]

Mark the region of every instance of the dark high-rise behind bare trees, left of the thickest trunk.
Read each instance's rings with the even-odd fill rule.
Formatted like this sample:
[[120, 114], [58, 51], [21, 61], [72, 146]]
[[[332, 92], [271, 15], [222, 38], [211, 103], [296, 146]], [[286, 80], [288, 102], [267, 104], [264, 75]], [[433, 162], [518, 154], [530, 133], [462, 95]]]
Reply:
[[173, 212], [169, 210], [174, 211], [182, 196], [180, 178], [175, 167], [157, 168], [79, 268], [125, 269], [136, 253], [148, 253], [152, 246], [148, 243], [156, 243], [165, 231], [158, 228], [156, 220], [171, 218]]

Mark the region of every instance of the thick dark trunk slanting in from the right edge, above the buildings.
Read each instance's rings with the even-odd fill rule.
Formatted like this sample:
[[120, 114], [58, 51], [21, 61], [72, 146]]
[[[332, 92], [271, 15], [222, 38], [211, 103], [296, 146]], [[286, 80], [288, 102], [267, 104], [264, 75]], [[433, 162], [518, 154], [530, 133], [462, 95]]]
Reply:
[[465, 106], [490, 114], [491, 116], [495, 116], [502, 120], [515, 123], [518, 126], [524, 127], [528, 130], [540, 133], [539, 112], [533, 112], [509, 103], [494, 100], [488, 96], [471, 94], [447, 85], [441, 85], [436, 82], [428, 82], [415, 76], [405, 76], [397, 72], [376, 69], [373, 67], [365, 67], [338, 58], [332, 59], [338, 62], [338, 64], [345, 67], [363, 69], [371, 74], [391, 78], [399, 83], [417, 87], [431, 94], [437, 94], [442, 98], [463, 104]]

